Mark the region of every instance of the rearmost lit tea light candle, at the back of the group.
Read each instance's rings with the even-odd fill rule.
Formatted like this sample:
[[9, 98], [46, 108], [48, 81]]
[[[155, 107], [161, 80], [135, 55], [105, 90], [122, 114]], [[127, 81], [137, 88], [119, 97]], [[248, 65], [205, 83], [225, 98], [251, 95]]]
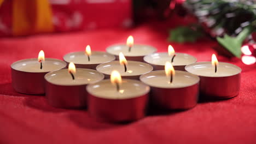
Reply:
[[107, 47], [106, 51], [114, 55], [117, 59], [120, 52], [124, 53], [124, 56], [129, 61], [143, 62], [143, 57], [150, 53], [156, 52], [155, 47], [142, 44], [133, 44], [133, 37], [127, 38], [127, 43], [112, 45]]

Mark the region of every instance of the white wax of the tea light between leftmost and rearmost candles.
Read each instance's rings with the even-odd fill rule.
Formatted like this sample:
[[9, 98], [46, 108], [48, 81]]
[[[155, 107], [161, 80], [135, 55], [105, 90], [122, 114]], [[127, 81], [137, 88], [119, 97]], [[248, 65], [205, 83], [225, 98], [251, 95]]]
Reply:
[[114, 61], [115, 57], [106, 52], [92, 51], [90, 61], [88, 61], [88, 56], [83, 51], [79, 51], [68, 53], [63, 59], [68, 63], [73, 62], [74, 64], [101, 64]]

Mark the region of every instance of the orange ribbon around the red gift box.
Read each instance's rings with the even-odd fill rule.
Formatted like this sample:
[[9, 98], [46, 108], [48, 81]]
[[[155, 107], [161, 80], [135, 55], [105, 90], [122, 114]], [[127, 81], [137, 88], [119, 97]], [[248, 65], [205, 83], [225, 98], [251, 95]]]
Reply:
[[53, 32], [53, 30], [48, 0], [13, 0], [13, 35]]

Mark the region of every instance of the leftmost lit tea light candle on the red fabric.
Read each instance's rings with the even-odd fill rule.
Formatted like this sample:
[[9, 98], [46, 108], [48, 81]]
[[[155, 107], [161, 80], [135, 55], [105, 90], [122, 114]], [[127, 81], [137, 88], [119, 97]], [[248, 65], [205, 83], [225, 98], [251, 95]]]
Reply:
[[12, 85], [16, 92], [44, 94], [44, 75], [66, 67], [66, 63], [54, 58], [44, 58], [40, 51], [38, 58], [22, 59], [11, 67]]

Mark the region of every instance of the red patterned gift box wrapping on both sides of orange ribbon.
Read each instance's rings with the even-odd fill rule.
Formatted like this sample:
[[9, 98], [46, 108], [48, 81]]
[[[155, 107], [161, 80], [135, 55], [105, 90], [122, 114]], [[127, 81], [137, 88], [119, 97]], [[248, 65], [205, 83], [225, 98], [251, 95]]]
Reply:
[[[13, 3], [14, 0], [5, 0], [0, 7], [0, 36], [13, 35]], [[49, 3], [53, 32], [132, 26], [131, 0], [49, 0]]]

